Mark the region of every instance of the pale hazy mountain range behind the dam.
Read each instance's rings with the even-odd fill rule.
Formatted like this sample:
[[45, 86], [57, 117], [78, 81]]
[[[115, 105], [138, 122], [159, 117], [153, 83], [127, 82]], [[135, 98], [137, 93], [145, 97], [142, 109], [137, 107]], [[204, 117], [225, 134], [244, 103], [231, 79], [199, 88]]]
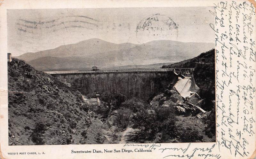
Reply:
[[55, 49], [25, 53], [17, 58], [42, 71], [86, 69], [91, 68], [94, 63], [99, 68], [110, 68], [178, 62], [193, 58], [213, 47], [213, 43], [183, 43], [171, 40], [156, 40], [140, 45], [114, 44], [94, 38]]

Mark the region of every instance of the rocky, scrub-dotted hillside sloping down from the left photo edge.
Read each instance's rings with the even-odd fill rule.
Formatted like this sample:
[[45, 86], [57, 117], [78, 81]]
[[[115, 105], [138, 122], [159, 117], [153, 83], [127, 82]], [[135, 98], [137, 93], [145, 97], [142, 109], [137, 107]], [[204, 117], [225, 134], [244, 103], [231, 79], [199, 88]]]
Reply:
[[80, 92], [18, 59], [8, 63], [8, 112], [9, 145], [94, 144], [100, 139], [102, 122]]

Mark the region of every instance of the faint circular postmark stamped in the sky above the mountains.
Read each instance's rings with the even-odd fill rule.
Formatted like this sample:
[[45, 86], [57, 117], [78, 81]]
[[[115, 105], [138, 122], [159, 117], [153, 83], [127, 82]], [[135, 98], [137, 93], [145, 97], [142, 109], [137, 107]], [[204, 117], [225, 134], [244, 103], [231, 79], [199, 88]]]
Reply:
[[136, 36], [154, 39], [176, 39], [178, 36], [178, 25], [166, 15], [153, 14], [139, 22], [136, 27]]

